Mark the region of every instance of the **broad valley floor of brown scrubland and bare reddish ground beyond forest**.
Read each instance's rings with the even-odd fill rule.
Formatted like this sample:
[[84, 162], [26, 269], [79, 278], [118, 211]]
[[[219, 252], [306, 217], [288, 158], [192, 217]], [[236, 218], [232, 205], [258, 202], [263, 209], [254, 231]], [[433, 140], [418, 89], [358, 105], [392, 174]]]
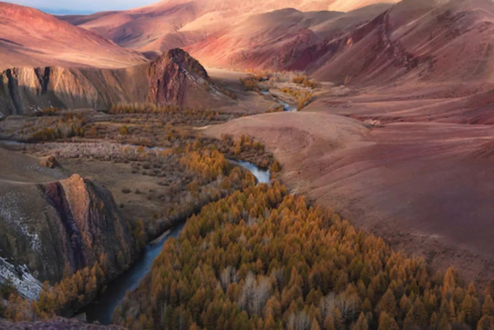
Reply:
[[[489, 101], [489, 84], [359, 89], [321, 83], [310, 89], [266, 82], [245, 91], [240, 79], [247, 74], [208, 72], [235, 95], [235, 105], [205, 113], [114, 109], [7, 118], [1, 138], [11, 140], [28, 132], [44, 138], [56, 123], [85, 130], [64, 143], [8, 146], [25, 154], [0, 147], [0, 187], [81, 174], [112, 192], [132, 228], [143, 219], [149, 242], [248, 181], [220, 160], [237, 180], [223, 182], [218, 172], [210, 174], [217, 160], [212, 169], [194, 165], [204, 156], [196, 151], [214, 145], [222, 160], [260, 167], [275, 165], [272, 153], [283, 166], [277, 177], [293, 194], [332, 207], [396, 250], [423, 256], [433, 270], [453, 265], [479, 287], [491, 279], [494, 127], [479, 110]], [[293, 95], [307, 90], [312, 102], [302, 102], [301, 111], [280, 108], [280, 99], [296, 108]], [[56, 156], [55, 169], [37, 164], [49, 155]]]

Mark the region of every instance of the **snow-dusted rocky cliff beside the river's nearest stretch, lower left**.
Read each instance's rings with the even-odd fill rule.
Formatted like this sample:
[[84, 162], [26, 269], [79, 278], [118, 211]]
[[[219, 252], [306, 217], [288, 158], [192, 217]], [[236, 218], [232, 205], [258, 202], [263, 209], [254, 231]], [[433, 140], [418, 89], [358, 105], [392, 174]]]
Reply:
[[10, 278], [24, 296], [61, 280], [66, 263], [72, 271], [91, 267], [105, 253], [105, 275], [114, 278], [136, 258], [111, 193], [90, 180], [1, 184], [0, 282]]

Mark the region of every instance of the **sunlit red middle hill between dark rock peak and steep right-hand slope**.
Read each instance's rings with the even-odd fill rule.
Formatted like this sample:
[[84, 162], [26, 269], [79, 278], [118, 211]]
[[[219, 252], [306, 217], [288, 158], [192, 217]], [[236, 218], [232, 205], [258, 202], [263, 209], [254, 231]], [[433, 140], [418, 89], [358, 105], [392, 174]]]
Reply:
[[[351, 13], [276, 10], [238, 21], [186, 49], [208, 66], [306, 70], [318, 56], [311, 47], [323, 47], [330, 36], [356, 28], [387, 8], [377, 5]], [[215, 51], [218, 48], [222, 51]]]

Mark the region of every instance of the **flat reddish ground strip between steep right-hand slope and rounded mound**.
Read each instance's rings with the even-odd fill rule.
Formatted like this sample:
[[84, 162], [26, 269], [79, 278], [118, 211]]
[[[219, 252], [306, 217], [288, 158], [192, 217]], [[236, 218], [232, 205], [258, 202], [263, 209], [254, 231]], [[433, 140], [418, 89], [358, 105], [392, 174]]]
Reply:
[[493, 82], [391, 84], [360, 89], [324, 85], [305, 111], [380, 123], [494, 124]]

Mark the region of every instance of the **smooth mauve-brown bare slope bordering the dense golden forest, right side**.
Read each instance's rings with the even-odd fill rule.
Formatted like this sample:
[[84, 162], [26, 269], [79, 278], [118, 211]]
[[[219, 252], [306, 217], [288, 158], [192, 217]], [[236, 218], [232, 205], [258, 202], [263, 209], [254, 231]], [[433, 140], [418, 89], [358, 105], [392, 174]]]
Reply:
[[494, 273], [494, 127], [394, 123], [328, 113], [274, 113], [210, 127], [247, 133], [284, 166], [296, 193], [331, 206], [394, 248], [453, 264], [468, 280]]

